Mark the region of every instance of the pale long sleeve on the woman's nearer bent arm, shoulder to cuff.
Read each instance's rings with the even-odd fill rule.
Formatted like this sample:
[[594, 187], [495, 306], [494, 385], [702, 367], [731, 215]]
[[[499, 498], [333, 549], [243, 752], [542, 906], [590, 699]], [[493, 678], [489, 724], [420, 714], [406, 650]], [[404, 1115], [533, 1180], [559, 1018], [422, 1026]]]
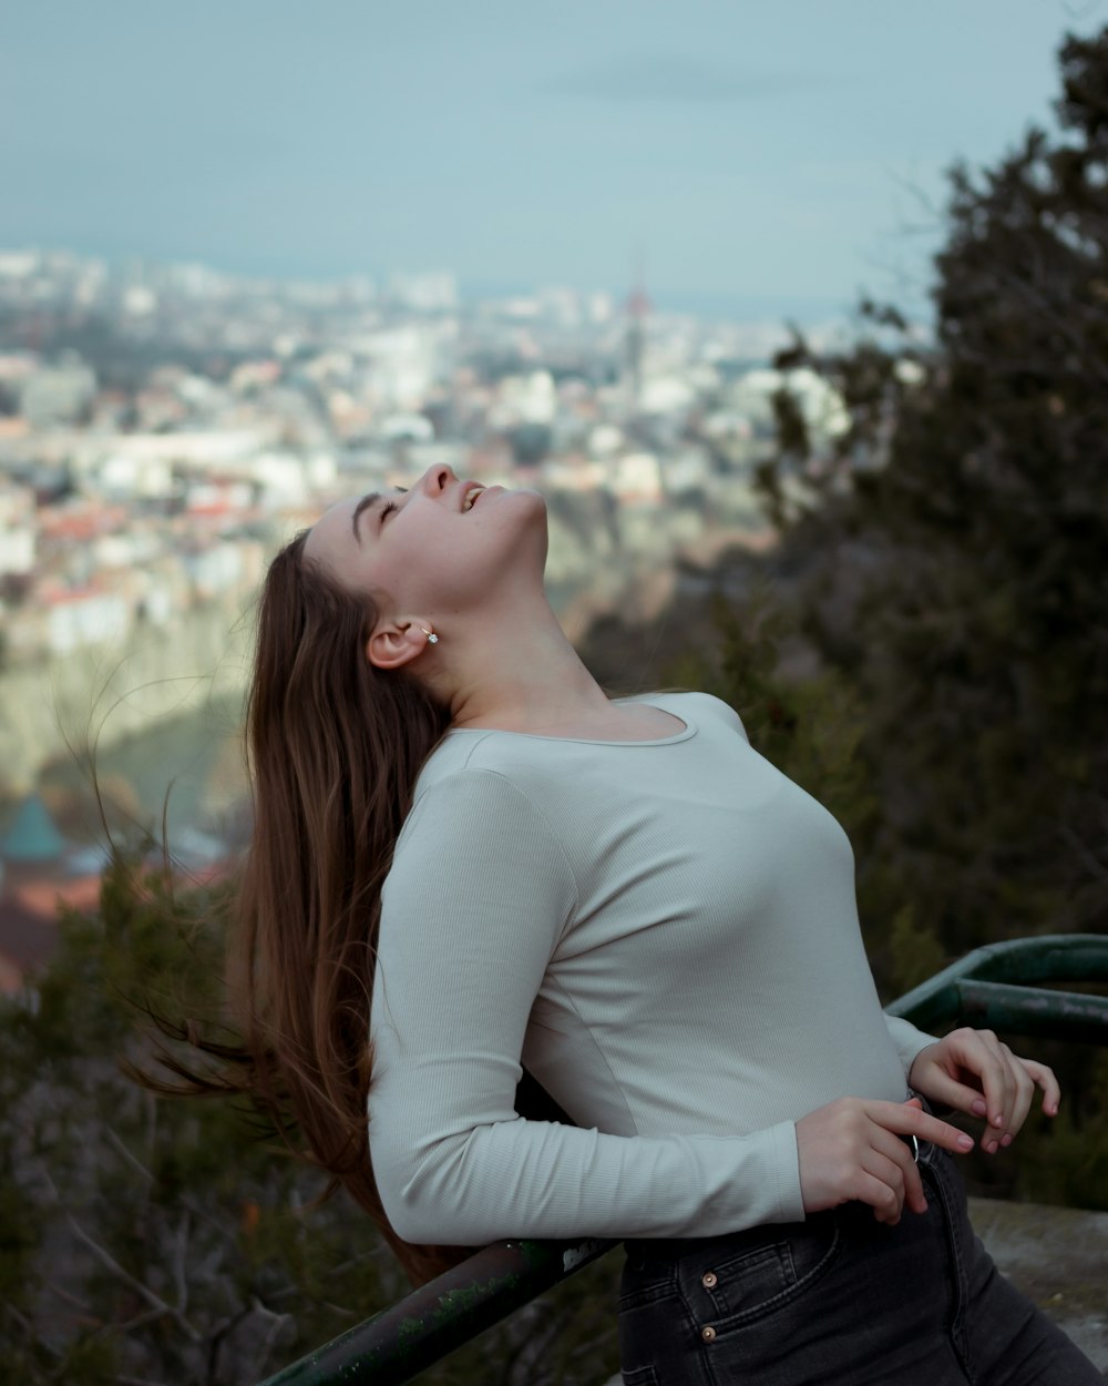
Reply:
[[409, 1242], [712, 1236], [803, 1218], [791, 1121], [626, 1137], [515, 1113], [532, 1003], [576, 887], [540, 808], [494, 771], [418, 800], [382, 891], [370, 1155]]

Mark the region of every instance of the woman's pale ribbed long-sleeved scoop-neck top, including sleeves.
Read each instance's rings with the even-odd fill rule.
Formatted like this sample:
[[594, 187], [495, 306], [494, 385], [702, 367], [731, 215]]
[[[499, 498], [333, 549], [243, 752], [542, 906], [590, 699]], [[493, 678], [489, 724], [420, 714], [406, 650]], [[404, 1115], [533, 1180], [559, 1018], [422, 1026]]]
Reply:
[[[370, 1152], [410, 1242], [803, 1218], [795, 1121], [907, 1096], [835, 819], [701, 693], [654, 742], [447, 735], [382, 897]], [[579, 1124], [515, 1114], [521, 1058]]]

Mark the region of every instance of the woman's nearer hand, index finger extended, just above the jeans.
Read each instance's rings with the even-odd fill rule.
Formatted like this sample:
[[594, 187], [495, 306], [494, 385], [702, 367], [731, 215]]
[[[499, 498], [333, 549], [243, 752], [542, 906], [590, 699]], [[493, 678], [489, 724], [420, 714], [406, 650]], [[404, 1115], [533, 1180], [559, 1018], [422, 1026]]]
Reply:
[[907, 1203], [927, 1211], [924, 1184], [911, 1146], [900, 1137], [932, 1141], [964, 1155], [974, 1141], [957, 1127], [910, 1102], [839, 1098], [796, 1123], [801, 1193], [805, 1211], [819, 1213], [857, 1200], [868, 1203], [878, 1222], [895, 1227]]

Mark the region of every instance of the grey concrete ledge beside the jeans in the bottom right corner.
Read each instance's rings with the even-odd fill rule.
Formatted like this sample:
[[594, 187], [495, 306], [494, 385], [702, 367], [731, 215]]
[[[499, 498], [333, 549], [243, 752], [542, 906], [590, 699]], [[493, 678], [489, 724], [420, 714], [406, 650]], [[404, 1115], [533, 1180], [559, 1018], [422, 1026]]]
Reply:
[[970, 1218], [1012, 1285], [1108, 1372], [1108, 1213], [971, 1198]]

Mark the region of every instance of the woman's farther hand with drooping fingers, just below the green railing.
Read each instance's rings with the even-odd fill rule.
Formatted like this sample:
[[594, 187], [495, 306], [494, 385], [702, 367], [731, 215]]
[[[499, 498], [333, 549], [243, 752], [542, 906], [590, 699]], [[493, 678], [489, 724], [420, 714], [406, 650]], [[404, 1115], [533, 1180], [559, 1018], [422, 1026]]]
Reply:
[[1057, 1116], [1061, 1089], [1051, 1069], [1021, 1059], [992, 1030], [951, 1030], [915, 1056], [909, 1084], [925, 1098], [958, 1112], [985, 1117], [989, 1130], [981, 1148], [989, 1155], [1011, 1145], [1030, 1110], [1035, 1089], [1043, 1089], [1043, 1112]]

